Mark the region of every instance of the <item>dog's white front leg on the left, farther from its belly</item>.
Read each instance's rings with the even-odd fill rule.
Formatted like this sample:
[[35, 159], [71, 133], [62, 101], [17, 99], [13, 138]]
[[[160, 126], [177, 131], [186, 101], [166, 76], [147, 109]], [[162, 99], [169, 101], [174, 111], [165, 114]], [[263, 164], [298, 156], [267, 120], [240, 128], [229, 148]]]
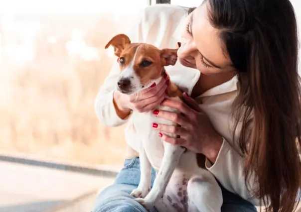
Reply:
[[[142, 145], [143, 146], [143, 145]], [[144, 147], [139, 152], [140, 159], [140, 182], [137, 189], [131, 193], [136, 198], [145, 198], [151, 190], [151, 163]]]

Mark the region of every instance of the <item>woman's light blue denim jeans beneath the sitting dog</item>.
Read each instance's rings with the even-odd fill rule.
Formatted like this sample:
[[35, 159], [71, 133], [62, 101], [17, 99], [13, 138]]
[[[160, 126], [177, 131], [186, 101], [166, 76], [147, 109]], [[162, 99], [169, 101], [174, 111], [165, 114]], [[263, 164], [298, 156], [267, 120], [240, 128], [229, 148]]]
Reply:
[[[155, 178], [151, 172], [151, 185]], [[138, 187], [140, 181], [139, 158], [128, 159], [124, 168], [117, 175], [113, 185], [101, 191], [96, 199], [93, 212], [148, 212], [138, 202], [133, 200], [130, 193]], [[223, 206], [221, 212], [256, 212], [256, 208], [238, 195], [222, 188]], [[150, 212], [157, 212], [151, 209]]]

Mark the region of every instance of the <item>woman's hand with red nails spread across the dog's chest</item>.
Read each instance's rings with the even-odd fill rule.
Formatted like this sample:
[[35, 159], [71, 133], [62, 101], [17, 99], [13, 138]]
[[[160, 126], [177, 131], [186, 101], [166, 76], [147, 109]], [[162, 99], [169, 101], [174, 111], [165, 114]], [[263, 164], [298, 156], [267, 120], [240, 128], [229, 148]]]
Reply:
[[[180, 145], [195, 152], [204, 154], [212, 163], [221, 148], [223, 138], [213, 128], [207, 115], [198, 104], [186, 93], [183, 94], [185, 103], [167, 99], [161, 105], [176, 108], [181, 112], [154, 110], [153, 113], [161, 118], [171, 120], [180, 126], [153, 123], [159, 131], [159, 136], [171, 144]], [[176, 134], [180, 137], [169, 137], [164, 133]]]

